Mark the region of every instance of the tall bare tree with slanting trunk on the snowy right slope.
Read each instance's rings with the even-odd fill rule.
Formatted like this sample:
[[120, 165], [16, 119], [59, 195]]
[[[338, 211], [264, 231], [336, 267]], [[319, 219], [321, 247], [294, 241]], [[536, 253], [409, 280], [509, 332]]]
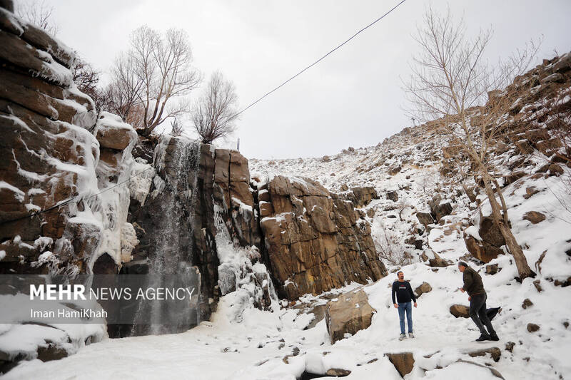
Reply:
[[[510, 230], [507, 206], [492, 176], [490, 156], [494, 141], [509, 127], [505, 115], [516, 100], [514, 91], [497, 89], [505, 88], [527, 69], [537, 47], [532, 44], [491, 66], [484, 58], [491, 36], [490, 30], [480, 31], [470, 40], [465, 36], [463, 20], [453, 21], [450, 10], [440, 16], [427, 9], [424, 26], [415, 35], [422, 53], [414, 58], [413, 74], [405, 89], [413, 105], [410, 111], [424, 120], [440, 118], [440, 128], [450, 138], [450, 145], [458, 147], [459, 156], [468, 158], [472, 172], [481, 177], [492, 218], [514, 257], [520, 278], [525, 279], [534, 277], [535, 272]], [[475, 115], [477, 119], [472, 122]]]

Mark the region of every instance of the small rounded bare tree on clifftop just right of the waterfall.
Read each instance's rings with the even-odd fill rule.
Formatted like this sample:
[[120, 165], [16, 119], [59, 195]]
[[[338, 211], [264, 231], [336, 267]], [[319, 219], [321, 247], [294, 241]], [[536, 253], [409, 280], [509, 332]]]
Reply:
[[216, 71], [192, 113], [194, 128], [203, 143], [210, 144], [234, 131], [237, 106], [236, 88]]

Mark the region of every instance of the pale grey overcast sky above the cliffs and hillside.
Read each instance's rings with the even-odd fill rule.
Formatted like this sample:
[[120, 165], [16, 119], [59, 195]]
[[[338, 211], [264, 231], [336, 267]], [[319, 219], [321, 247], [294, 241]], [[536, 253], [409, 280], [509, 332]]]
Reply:
[[[188, 31], [194, 64], [208, 78], [222, 71], [247, 106], [315, 61], [398, 0], [46, 0], [62, 41], [106, 72], [142, 24]], [[248, 158], [333, 155], [376, 145], [410, 126], [400, 78], [416, 46], [411, 38], [425, 1], [407, 0], [318, 65], [242, 114], [236, 137]], [[447, 1], [434, 0], [445, 11]], [[470, 34], [495, 30], [488, 54], [505, 56], [544, 36], [540, 56], [571, 50], [571, 1], [450, 2]], [[198, 95], [198, 92], [194, 94]], [[187, 122], [188, 123], [188, 122]], [[191, 128], [191, 125], [188, 125]]]

